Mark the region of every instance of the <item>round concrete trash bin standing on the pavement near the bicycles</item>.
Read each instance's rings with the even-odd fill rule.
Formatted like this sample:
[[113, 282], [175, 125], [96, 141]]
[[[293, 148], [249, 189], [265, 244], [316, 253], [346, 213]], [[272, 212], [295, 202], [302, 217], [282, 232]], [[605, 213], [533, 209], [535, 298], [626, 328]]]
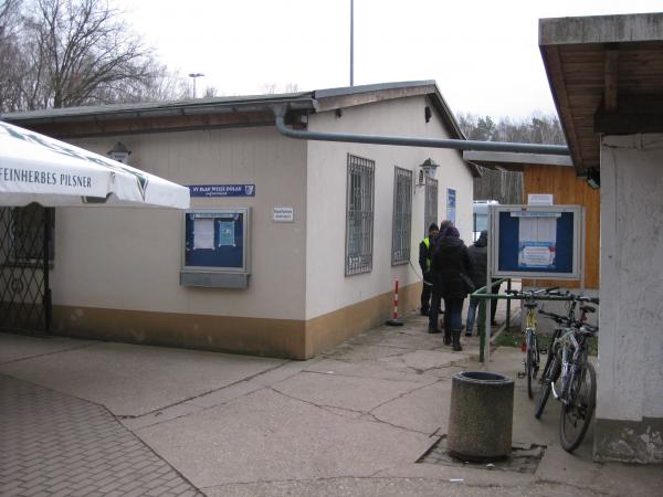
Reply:
[[446, 448], [463, 461], [508, 457], [512, 448], [514, 380], [485, 371], [454, 374]]

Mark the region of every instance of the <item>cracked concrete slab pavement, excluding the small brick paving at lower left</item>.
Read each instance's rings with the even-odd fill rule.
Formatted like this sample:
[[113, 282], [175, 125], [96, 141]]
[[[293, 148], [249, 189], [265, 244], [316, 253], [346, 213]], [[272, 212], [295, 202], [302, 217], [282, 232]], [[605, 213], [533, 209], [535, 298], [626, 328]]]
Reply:
[[591, 430], [576, 454], [564, 452], [559, 406], [534, 419], [517, 349], [497, 349], [490, 369], [516, 379], [514, 443], [546, 446], [536, 472], [418, 462], [446, 433], [452, 376], [482, 366], [478, 339], [462, 337], [465, 350], [452, 352], [427, 318], [404, 321], [303, 362], [0, 335], [0, 350], [12, 350], [0, 377], [107, 406], [210, 496], [663, 494], [660, 467], [593, 463]]

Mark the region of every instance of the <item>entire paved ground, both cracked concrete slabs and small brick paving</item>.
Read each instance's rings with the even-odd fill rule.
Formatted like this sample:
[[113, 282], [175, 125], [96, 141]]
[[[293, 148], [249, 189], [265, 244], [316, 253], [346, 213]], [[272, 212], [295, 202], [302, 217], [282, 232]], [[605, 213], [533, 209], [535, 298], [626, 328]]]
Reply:
[[[519, 379], [514, 445], [540, 461], [422, 457], [451, 378], [482, 367], [476, 338], [452, 352], [425, 329], [412, 315], [309, 361], [0, 334], [0, 494], [663, 495], [660, 467], [593, 463], [591, 430], [564, 452], [558, 405], [535, 420]], [[502, 348], [490, 369], [515, 378], [520, 361]]]

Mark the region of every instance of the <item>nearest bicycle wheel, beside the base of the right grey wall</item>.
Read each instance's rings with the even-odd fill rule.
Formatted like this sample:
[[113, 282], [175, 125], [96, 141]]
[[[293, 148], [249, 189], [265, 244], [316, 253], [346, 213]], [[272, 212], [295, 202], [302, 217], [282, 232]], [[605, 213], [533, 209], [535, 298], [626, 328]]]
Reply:
[[593, 414], [597, 373], [591, 363], [586, 362], [576, 372], [570, 392], [569, 403], [561, 405], [559, 414], [559, 440], [567, 452], [572, 452], [580, 445]]

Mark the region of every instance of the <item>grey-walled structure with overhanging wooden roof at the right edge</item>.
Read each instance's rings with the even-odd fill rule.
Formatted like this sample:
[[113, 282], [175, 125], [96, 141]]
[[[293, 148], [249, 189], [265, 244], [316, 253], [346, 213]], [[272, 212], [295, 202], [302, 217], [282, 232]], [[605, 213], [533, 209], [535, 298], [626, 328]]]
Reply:
[[594, 457], [663, 463], [663, 13], [541, 19], [576, 175], [600, 186]]

